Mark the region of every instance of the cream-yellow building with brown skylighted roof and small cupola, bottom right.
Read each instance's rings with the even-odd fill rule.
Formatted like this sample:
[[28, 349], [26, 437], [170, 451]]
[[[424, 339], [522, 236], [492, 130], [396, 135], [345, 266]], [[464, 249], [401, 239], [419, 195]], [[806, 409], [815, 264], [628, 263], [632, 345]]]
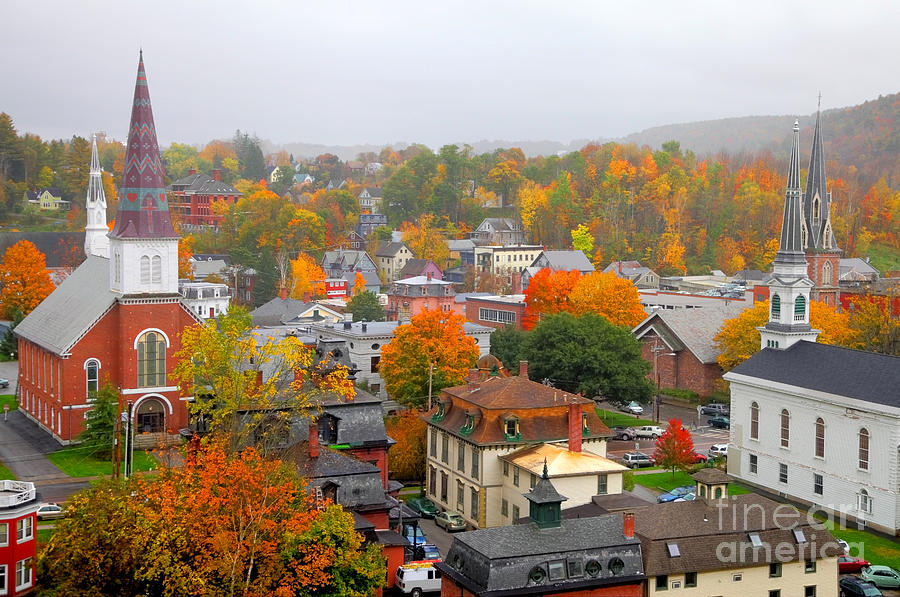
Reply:
[[788, 504], [730, 496], [718, 469], [689, 502], [635, 510], [648, 596], [837, 597], [837, 540]]

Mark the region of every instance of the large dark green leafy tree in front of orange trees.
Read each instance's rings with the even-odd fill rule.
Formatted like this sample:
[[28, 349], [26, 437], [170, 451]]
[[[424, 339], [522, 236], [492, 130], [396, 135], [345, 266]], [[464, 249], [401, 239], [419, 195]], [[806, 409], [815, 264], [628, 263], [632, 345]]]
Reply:
[[532, 379], [569, 392], [626, 403], [646, 403], [653, 394], [640, 342], [593, 313], [543, 317], [522, 343], [521, 357]]

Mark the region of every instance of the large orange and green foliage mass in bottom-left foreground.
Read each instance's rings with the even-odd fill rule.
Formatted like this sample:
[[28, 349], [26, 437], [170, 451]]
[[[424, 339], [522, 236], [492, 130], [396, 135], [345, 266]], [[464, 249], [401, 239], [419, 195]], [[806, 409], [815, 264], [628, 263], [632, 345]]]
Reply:
[[180, 468], [74, 496], [38, 582], [56, 595], [373, 594], [380, 548], [363, 548], [340, 506], [314, 505], [296, 469], [213, 443]]

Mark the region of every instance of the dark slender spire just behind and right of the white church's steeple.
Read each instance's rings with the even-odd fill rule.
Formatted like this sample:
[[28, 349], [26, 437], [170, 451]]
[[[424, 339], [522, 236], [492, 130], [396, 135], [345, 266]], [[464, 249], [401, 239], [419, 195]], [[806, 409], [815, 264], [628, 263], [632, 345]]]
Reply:
[[803, 216], [806, 225], [804, 250], [837, 251], [831, 231], [831, 193], [825, 180], [825, 150], [822, 146], [822, 112], [816, 111], [816, 130], [813, 133], [806, 191], [803, 193]]

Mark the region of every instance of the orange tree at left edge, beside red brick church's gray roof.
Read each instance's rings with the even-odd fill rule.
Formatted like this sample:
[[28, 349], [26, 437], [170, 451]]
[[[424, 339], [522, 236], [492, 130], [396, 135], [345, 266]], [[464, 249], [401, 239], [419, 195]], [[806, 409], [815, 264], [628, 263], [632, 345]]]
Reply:
[[9, 247], [0, 261], [0, 307], [5, 319], [17, 310], [31, 313], [53, 292], [47, 261], [31, 241], [20, 240]]

